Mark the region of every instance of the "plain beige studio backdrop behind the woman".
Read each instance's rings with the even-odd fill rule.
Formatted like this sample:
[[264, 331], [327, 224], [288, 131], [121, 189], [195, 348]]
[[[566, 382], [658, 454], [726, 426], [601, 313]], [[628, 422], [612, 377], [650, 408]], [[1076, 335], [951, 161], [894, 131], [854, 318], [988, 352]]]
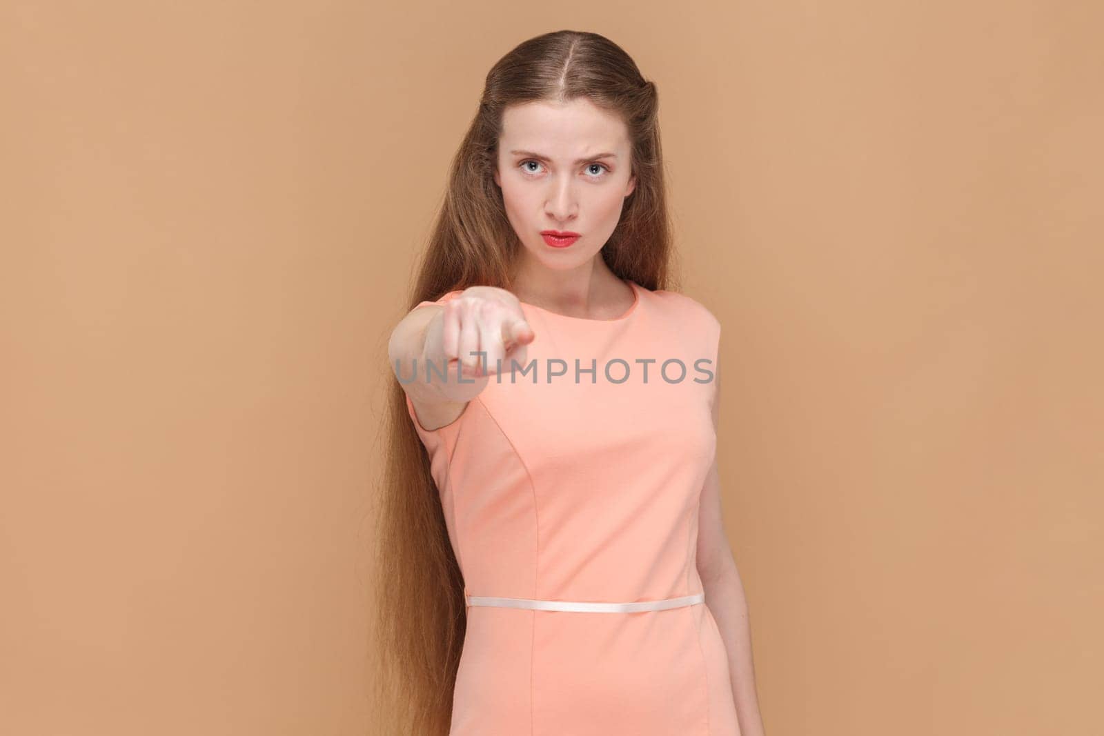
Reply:
[[8, 2], [0, 733], [362, 734], [390, 328], [490, 65], [659, 85], [767, 733], [1100, 734], [1100, 3]]

